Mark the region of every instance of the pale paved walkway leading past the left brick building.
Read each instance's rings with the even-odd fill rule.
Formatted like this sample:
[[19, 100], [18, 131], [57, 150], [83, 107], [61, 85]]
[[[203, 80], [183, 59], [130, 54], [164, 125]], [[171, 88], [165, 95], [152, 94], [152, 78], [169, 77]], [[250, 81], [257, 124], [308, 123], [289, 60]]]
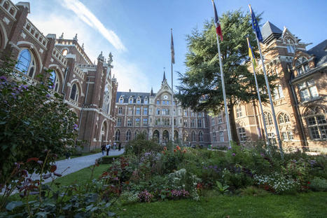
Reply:
[[[110, 149], [109, 156], [116, 156], [124, 153], [124, 149], [121, 149], [120, 151]], [[104, 153], [104, 156], [106, 156], [106, 152]], [[76, 172], [78, 170], [81, 170], [83, 168], [88, 168], [90, 165], [95, 164], [95, 160], [97, 158], [102, 157], [102, 153], [98, 154], [91, 154], [88, 156], [81, 156], [78, 158], [71, 158], [69, 160], [62, 160], [62, 161], [56, 161], [55, 165], [57, 165], [57, 170], [55, 172], [62, 174], [62, 176], [69, 175], [72, 172]], [[32, 179], [38, 178], [39, 175], [32, 175]], [[44, 183], [51, 182], [52, 178], [46, 179]]]

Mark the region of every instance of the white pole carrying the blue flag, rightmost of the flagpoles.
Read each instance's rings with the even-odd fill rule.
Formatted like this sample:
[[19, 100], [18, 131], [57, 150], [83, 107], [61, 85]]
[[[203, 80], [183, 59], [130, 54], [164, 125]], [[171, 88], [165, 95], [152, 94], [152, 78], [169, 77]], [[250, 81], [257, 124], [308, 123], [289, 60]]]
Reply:
[[[276, 114], [274, 112], [274, 103], [272, 102], [272, 94], [270, 93], [269, 81], [268, 81], [268, 78], [267, 78], [267, 73], [265, 71], [265, 62], [263, 61], [263, 54], [261, 53], [261, 47], [260, 47], [260, 43], [259, 43], [259, 39], [258, 39], [257, 35], [256, 35], [256, 41], [258, 43], [261, 63], [263, 64], [263, 74], [265, 75], [265, 85], [267, 86], [267, 91], [268, 91], [268, 96], [269, 96], [269, 101], [270, 101], [270, 107], [272, 109], [272, 117], [274, 118], [274, 128], [276, 129], [278, 145], [279, 145], [279, 149], [280, 149], [280, 152], [281, 152], [281, 160], [284, 161], [284, 151], [283, 151], [283, 147], [281, 146], [281, 137], [279, 135], [279, 128], [278, 128], [278, 124], [277, 124]], [[265, 119], [263, 119], [263, 123], [265, 124]]]

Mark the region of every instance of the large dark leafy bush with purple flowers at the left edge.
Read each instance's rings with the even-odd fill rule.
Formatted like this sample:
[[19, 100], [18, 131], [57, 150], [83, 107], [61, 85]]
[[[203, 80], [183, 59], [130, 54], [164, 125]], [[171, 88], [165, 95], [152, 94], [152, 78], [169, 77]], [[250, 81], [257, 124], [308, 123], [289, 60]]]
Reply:
[[[47, 76], [28, 86], [14, 66], [11, 60], [0, 63], [0, 184], [6, 183], [15, 163], [44, 161], [49, 150], [61, 156], [74, 147], [77, 137], [77, 116], [59, 94], [51, 93], [53, 83]], [[45, 171], [55, 158], [48, 157]]]

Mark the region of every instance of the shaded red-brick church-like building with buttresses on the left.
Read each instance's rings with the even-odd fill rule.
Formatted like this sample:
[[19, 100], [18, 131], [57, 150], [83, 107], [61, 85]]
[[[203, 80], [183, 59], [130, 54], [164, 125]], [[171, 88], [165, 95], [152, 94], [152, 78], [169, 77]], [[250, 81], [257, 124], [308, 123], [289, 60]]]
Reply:
[[29, 3], [0, 1], [0, 48], [18, 60], [15, 69], [27, 83], [37, 83], [37, 76], [50, 70], [53, 93], [78, 116], [78, 139], [85, 140], [85, 150], [99, 148], [113, 138], [115, 100], [118, 83], [111, 77], [112, 55], [101, 54], [93, 64], [74, 39], [43, 35], [27, 18]]

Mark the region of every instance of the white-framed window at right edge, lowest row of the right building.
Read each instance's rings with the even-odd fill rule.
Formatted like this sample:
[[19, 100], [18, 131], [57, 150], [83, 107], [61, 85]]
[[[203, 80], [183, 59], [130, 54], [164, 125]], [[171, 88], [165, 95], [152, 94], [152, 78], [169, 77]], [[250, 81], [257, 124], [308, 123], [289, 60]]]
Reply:
[[327, 139], [327, 122], [323, 114], [307, 118], [310, 136], [312, 139]]

